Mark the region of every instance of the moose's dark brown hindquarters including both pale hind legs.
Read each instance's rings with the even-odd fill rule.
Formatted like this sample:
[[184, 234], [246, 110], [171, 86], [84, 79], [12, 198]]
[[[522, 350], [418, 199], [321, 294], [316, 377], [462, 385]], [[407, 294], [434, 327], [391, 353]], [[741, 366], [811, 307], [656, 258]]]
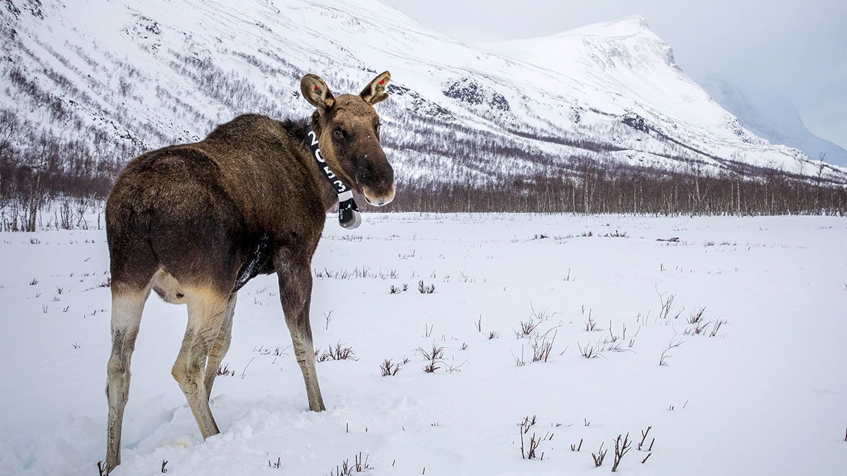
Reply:
[[[208, 395], [229, 348], [235, 283], [244, 263], [255, 258], [255, 234], [227, 193], [219, 165], [191, 147], [169, 147], [130, 163], [109, 198], [106, 219], [113, 257], [107, 395], [110, 421], [117, 422], [109, 440], [119, 441], [123, 407], [113, 402], [127, 399], [131, 352], [151, 290], [188, 306], [172, 374], [203, 437], [217, 434]], [[262, 261], [266, 267], [267, 257]]]

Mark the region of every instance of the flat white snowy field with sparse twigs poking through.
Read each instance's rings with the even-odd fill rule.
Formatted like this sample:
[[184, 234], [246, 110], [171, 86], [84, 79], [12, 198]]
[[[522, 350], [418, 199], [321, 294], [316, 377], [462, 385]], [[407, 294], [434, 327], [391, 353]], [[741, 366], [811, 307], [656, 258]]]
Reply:
[[[213, 390], [222, 433], [204, 442], [170, 375], [185, 308], [152, 296], [113, 474], [325, 475], [360, 453], [374, 475], [600, 474], [619, 434], [623, 474], [844, 474], [847, 220], [364, 218], [330, 218], [313, 261], [319, 355], [355, 354], [318, 363], [327, 411], [307, 411], [260, 276]], [[0, 239], [0, 473], [97, 474], [105, 232]]]

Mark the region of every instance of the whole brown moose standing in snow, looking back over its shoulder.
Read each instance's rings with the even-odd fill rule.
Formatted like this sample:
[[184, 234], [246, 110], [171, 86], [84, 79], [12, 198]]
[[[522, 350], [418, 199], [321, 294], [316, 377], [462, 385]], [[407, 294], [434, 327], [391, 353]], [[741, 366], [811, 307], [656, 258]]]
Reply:
[[204, 440], [219, 433], [209, 396], [230, 347], [236, 295], [257, 274], [277, 275], [309, 409], [325, 409], [309, 324], [311, 262], [338, 195], [309, 146], [317, 139], [326, 165], [368, 203], [391, 202], [394, 169], [380, 146], [374, 109], [388, 97], [389, 80], [385, 71], [358, 95], [335, 97], [320, 77], [304, 75], [311, 118], [241, 115], [202, 141], [144, 153], [119, 174], [106, 203], [112, 272], [106, 473], [120, 464], [130, 359], [150, 291], [188, 308], [171, 374]]

